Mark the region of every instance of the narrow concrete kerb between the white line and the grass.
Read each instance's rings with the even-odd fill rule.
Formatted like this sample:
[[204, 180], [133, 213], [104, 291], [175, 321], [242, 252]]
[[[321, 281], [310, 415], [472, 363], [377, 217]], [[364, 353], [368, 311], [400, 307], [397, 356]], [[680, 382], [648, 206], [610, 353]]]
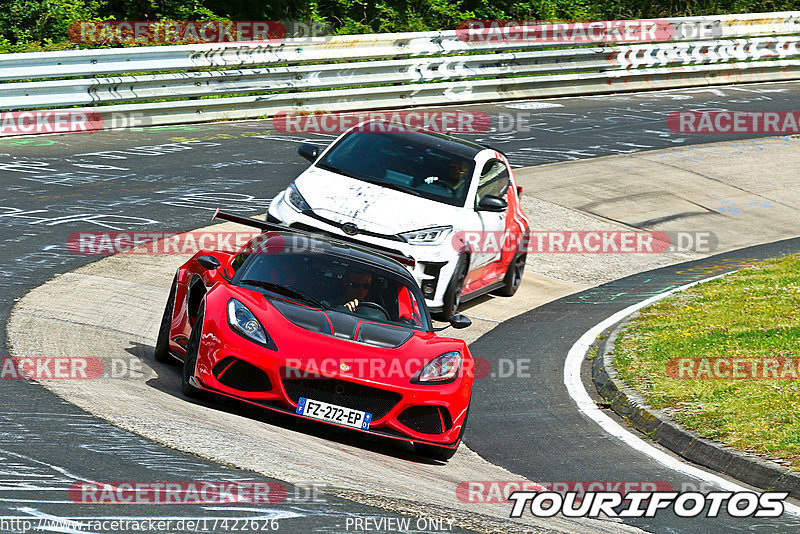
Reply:
[[800, 498], [800, 474], [761, 457], [700, 437], [675, 423], [667, 414], [647, 404], [614, 368], [614, 347], [620, 332], [639, 313], [617, 323], [601, 341], [592, 361], [592, 381], [608, 407], [630, 426], [681, 458], [729, 475], [741, 482], [771, 491], [788, 491]]

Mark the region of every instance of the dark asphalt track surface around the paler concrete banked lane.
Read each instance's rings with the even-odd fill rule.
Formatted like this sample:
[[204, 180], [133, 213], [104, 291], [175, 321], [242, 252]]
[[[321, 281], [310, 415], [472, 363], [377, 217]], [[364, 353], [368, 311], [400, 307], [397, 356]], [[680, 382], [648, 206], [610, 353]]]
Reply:
[[[515, 166], [531, 166], [742, 139], [742, 135], [680, 136], [666, 128], [678, 109], [786, 110], [800, 100], [800, 84], [702, 88], [461, 106], [498, 113], [529, 112], [523, 130], [463, 137], [503, 150]], [[269, 199], [305, 167], [298, 143], [324, 144], [330, 135], [286, 135], [269, 121], [198, 124], [69, 136], [0, 140], [0, 202], [4, 223], [0, 255], [0, 323], [14, 302], [53, 276], [96, 261], [67, 251], [78, 231], [186, 231], [208, 224], [217, 207], [262, 214]], [[791, 240], [701, 260], [711, 274], [733, 263], [800, 251]], [[699, 277], [704, 270], [673, 266], [628, 277], [565, 297], [507, 321], [472, 345], [476, 355], [534, 356], [530, 381], [476, 381], [466, 444], [483, 458], [531, 480], [666, 481], [683, 489], [700, 481], [679, 476], [632, 451], [586, 420], [562, 382], [569, 347], [588, 328], [625, 306]], [[710, 276], [705, 274], [704, 276]], [[610, 297], [613, 296], [613, 300]], [[68, 298], [65, 295], [65, 298]], [[7, 356], [7, 344], [0, 356]], [[0, 457], [0, 518], [205, 517], [291, 520], [281, 530], [342, 531], [347, 516], [399, 517], [351, 501], [305, 499], [308, 488], [288, 487], [280, 507], [75, 505], [66, 490], [75, 480], [263, 481], [260, 475], [185, 455], [120, 430], [62, 401], [42, 387], [4, 380]], [[593, 391], [591, 384], [587, 390]], [[156, 508], [155, 510], [153, 508]], [[794, 532], [800, 521], [785, 516], [768, 524], [742, 519], [681, 520], [659, 515], [632, 525], [654, 532], [731, 530]], [[56, 530], [67, 531], [67, 530]]]

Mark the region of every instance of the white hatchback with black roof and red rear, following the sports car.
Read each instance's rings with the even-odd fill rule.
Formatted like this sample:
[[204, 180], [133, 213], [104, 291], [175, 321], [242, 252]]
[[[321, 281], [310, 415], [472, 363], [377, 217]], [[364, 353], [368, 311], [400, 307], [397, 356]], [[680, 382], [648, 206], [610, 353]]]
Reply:
[[388, 125], [360, 125], [324, 150], [303, 144], [298, 153], [312, 165], [275, 197], [269, 221], [413, 258], [428, 307], [445, 320], [465, 300], [517, 290], [524, 249], [476, 248], [480, 239], [464, 239], [529, 232], [502, 153]]

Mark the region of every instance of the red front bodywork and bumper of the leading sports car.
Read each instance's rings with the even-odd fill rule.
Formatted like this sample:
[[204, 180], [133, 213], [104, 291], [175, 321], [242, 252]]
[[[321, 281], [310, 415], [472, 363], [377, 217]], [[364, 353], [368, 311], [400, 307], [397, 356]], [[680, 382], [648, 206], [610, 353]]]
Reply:
[[[472, 357], [463, 341], [422, 331], [414, 331], [397, 348], [339, 339], [299, 327], [263, 295], [239, 289], [218, 286], [206, 295], [195, 374], [198, 387], [310, 419], [295, 413], [298, 399], [305, 397], [373, 416], [367, 430], [345, 428], [440, 447], [458, 446], [472, 392]], [[270, 347], [228, 325], [230, 298], [257, 315], [270, 336]], [[453, 382], [411, 382], [430, 360], [454, 350], [461, 352], [462, 365]]]

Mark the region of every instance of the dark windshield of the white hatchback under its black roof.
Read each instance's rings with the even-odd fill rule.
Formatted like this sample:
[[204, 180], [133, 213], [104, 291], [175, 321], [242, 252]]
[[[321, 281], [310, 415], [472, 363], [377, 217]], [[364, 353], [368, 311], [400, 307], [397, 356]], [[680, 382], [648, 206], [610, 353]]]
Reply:
[[428, 137], [414, 133], [352, 132], [316, 166], [410, 195], [453, 206], [464, 205], [474, 160], [447, 150], [449, 142], [431, 142]]

